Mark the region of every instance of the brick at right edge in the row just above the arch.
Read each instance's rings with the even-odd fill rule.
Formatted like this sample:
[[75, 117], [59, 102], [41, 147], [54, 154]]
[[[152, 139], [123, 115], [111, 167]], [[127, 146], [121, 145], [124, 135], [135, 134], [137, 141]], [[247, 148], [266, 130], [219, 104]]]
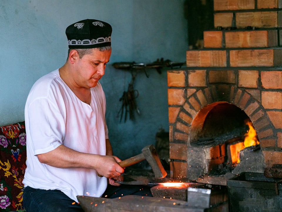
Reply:
[[262, 71], [261, 84], [266, 89], [281, 89], [282, 71]]

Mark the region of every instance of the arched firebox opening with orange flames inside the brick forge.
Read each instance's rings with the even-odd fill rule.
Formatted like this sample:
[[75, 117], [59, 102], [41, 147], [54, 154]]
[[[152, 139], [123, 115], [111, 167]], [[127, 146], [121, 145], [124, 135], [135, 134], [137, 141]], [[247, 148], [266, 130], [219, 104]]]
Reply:
[[[247, 132], [254, 133], [255, 141], [249, 144], [246, 143]], [[240, 162], [242, 149], [258, 143], [254, 126], [243, 110], [227, 102], [215, 102], [196, 115], [188, 146], [191, 150], [202, 148], [206, 158], [202, 174], [224, 175], [232, 172]]]

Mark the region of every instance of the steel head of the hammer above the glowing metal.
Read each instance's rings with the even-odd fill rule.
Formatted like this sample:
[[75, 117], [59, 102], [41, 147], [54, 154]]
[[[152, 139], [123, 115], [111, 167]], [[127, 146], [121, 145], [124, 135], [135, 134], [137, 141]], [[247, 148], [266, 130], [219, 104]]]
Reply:
[[160, 158], [158, 156], [155, 147], [152, 144], [145, 146], [142, 149], [142, 153], [145, 159], [152, 167], [152, 170], [155, 174], [155, 178], [164, 178], [167, 175], [167, 172], [164, 170], [164, 167], [162, 166], [162, 163], [160, 161]]

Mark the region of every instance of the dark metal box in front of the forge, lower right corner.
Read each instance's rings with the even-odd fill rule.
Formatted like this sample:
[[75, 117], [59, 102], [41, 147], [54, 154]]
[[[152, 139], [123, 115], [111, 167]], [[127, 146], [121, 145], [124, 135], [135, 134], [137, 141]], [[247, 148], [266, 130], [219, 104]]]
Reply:
[[229, 212], [281, 212], [281, 179], [242, 173], [227, 180]]

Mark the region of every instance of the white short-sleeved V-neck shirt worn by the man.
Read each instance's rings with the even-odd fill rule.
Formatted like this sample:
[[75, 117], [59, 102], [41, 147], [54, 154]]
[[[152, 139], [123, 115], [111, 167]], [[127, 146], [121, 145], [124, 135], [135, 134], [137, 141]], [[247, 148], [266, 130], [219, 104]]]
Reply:
[[91, 90], [91, 104], [76, 97], [61, 79], [59, 69], [41, 77], [31, 88], [25, 106], [27, 160], [24, 186], [61, 190], [77, 201], [77, 195], [100, 197], [107, 179], [96, 170], [55, 168], [40, 163], [37, 154], [65, 145], [73, 150], [105, 155], [108, 128], [105, 94], [101, 84]]

